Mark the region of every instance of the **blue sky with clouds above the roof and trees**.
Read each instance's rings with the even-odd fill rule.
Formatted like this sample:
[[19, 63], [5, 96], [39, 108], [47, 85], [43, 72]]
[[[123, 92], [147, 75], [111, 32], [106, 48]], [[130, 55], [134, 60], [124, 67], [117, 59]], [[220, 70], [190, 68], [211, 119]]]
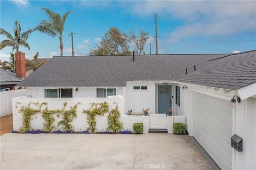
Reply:
[[[71, 31], [75, 55], [88, 54], [110, 27], [129, 32], [143, 29], [151, 36], [155, 54], [155, 13], [157, 13], [158, 54], [232, 53], [256, 49], [256, 1], [1, 1], [1, 28], [13, 35], [14, 21], [22, 32], [33, 29], [47, 16], [42, 8], [68, 15], [63, 32], [64, 55], [71, 55]], [[0, 36], [1, 41], [6, 39]], [[244, 41], [252, 40], [252, 41]], [[228, 43], [207, 43], [229, 41]], [[231, 42], [230, 42], [231, 41]], [[235, 42], [234, 42], [235, 41]], [[30, 50], [20, 47], [31, 59], [60, 55], [59, 40], [33, 32]], [[131, 50], [133, 47], [131, 46]], [[11, 47], [0, 51], [9, 60]]]

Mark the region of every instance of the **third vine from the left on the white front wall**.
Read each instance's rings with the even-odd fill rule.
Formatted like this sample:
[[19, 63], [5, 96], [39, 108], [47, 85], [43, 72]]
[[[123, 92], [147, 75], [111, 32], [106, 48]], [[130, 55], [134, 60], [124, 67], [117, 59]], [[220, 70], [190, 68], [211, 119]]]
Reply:
[[67, 107], [67, 102], [63, 103], [63, 108], [60, 110], [55, 110], [55, 112], [57, 112], [57, 116], [60, 117], [60, 115], [62, 116], [62, 120], [58, 122], [58, 126], [61, 125], [61, 130], [63, 130], [64, 132], [70, 132], [73, 131], [73, 126], [72, 126], [72, 121], [75, 117], [77, 117], [77, 105], [81, 104], [80, 102], [78, 102], [77, 104], [75, 104], [73, 107], [70, 106], [69, 110], [66, 111], [66, 107]]

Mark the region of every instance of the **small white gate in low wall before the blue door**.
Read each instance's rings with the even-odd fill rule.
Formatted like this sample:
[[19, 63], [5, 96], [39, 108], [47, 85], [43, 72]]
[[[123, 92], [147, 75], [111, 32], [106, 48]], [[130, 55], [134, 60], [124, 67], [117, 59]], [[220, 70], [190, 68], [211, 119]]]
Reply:
[[166, 114], [149, 114], [150, 129], [166, 129]]

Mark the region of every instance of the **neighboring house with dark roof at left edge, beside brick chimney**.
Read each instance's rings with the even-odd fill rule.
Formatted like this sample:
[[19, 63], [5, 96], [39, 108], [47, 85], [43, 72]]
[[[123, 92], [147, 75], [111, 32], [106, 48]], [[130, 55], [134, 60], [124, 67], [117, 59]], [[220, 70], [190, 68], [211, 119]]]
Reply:
[[0, 69], [0, 91], [14, 90], [21, 81], [13, 72]]

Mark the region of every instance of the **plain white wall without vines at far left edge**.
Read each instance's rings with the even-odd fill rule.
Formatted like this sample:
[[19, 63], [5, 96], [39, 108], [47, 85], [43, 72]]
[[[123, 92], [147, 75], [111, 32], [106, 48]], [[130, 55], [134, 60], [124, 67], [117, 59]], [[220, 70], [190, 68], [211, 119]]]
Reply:
[[12, 114], [12, 98], [26, 95], [26, 89], [0, 92], [0, 116]]

